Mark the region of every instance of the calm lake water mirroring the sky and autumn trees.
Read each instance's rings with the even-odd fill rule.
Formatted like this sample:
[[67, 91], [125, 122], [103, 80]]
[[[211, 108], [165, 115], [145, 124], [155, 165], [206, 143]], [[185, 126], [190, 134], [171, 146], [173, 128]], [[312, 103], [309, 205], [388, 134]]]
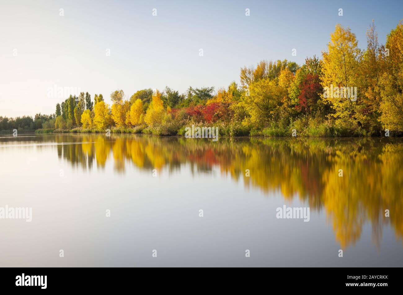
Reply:
[[33, 211], [0, 266], [403, 266], [402, 139], [30, 135], [0, 165], [0, 207]]

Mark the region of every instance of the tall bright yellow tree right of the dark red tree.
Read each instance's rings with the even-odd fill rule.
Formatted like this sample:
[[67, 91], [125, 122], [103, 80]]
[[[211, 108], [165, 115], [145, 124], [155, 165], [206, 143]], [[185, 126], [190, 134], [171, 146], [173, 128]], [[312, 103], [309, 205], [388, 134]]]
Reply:
[[359, 84], [361, 50], [357, 47], [355, 35], [350, 29], [336, 25], [336, 29], [330, 35], [328, 51], [322, 55], [322, 86], [330, 88], [330, 91], [335, 90], [334, 93], [328, 92], [324, 95], [324, 99], [334, 110], [330, 116], [336, 119], [336, 124], [343, 124], [346, 121], [356, 123], [353, 101], [349, 97], [340, 97], [341, 93], [336, 91], [339, 87], [357, 87]]

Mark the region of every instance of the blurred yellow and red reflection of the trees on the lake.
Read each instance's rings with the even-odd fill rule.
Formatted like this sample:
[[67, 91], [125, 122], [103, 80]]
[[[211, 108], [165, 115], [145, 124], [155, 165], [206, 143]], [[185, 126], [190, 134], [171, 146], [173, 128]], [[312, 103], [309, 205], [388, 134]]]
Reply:
[[[37, 143], [35, 137], [25, 141]], [[134, 135], [52, 135], [60, 159], [85, 170], [113, 161], [118, 173], [129, 166], [169, 172], [223, 175], [259, 188], [270, 197], [299, 199], [315, 211], [326, 212], [341, 247], [357, 242], [365, 223], [372, 226], [372, 242], [379, 247], [382, 228], [390, 226], [403, 237], [403, 141], [388, 138], [268, 139], [152, 137]], [[77, 143], [78, 142], [78, 143]], [[69, 144], [70, 143], [70, 144]], [[75, 144], [76, 143], [76, 144]], [[43, 148], [43, 147], [41, 147]], [[250, 177], [245, 176], [249, 169]], [[343, 177], [339, 177], [340, 169]], [[385, 217], [385, 210], [390, 217]]]

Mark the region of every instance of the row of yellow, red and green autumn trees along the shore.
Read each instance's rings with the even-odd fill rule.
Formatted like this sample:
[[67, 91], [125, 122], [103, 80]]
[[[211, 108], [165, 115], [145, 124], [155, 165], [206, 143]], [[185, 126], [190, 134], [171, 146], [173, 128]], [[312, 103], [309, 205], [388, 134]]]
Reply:
[[385, 129], [401, 134], [403, 22], [387, 35], [385, 45], [378, 43], [374, 22], [366, 36], [367, 48], [361, 50], [355, 34], [336, 25], [321, 58], [307, 57], [302, 66], [262, 60], [241, 68], [239, 85], [232, 82], [216, 92], [214, 87], [189, 87], [179, 94], [166, 87], [127, 98], [115, 90], [111, 105], [102, 94], [91, 100], [81, 92], [58, 103], [43, 127], [54, 123], [56, 131], [111, 128], [177, 135], [195, 124], [219, 126], [220, 135], [289, 136], [292, 129], [306, 136], [382, 135]]

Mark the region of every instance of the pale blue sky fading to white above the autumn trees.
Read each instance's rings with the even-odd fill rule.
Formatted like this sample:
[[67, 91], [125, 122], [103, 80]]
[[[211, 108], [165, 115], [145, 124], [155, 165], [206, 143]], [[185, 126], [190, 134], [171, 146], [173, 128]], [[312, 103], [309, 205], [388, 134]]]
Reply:
[[402, 0], [0, 0], [0, 116], [55, 113], [72, 90], [217, 90], [262, 59], [321, 56], [337, 23], [365, 49], [372, 19], [384, 44], [402, 18]]

